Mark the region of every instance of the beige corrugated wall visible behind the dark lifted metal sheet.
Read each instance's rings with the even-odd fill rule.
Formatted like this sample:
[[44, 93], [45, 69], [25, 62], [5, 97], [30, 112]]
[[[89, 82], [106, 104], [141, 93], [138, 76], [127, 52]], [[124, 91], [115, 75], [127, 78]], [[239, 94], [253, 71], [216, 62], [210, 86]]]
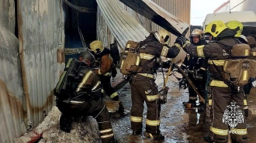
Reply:
[[[191, 0], [152, 0], [157, 5], [160, 5], [162, 8], [170, 12], [172, 15], [175, 15], [178, 19], [181, 19], [183, 22], [186, 22], [190, 25], [190, 6], [191, 6]], [[138, 22], [142, 26], [144, 26], [145, 29], [147, 29], [148, 32], [150, 31], [158, 31], [159, 29], [162, 29], [161, 26], [157, 26], [154, 22], [150, 22], [150, 20], [144, 18], [144, 16], [137, 14], [137, 12], [134, 12], [132, 9], [127, 7], [126, 5], [123, 5], [122, 2], [120, 2], [120, 5], [123, 9], [125, 9], [127, 12], [130, 13], [130, 15], [133, 15], [135, 19], [137, 19]], [[187, 33], [186, 37], [189, 38], [189, 32]], [[175, 42], [176, 36], [171, 36], [171, 45]], [[175, 58], [176, 61], [178, 60], [184, 60], [186, 53], [185, 51], [181, 51], [181, 53], [178, 54], [178, 56]]]

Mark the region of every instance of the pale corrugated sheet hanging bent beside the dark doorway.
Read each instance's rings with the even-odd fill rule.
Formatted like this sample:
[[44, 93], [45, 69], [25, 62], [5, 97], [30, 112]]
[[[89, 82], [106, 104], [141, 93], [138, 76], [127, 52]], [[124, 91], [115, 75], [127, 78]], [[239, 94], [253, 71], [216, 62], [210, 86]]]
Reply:
[[128, 12], [120, 9], [118, 0], [97, 0], [99, 9], [119, 45], [124, 47], [128, 40], [141, 41], [149, 35]]

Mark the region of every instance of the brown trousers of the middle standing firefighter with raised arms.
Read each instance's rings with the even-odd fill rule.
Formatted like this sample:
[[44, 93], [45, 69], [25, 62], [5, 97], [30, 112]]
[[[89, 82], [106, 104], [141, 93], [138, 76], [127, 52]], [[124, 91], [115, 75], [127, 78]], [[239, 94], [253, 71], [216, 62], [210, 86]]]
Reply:
[[154, 79], [138, 80], [133, 77], [130, 81], [132, 107], [130, 113], [131, 128], [133, 131], [142, 131], [144, 101], [147, 104], [146, 131], [151, 134], [160, 134], [159, 93]]

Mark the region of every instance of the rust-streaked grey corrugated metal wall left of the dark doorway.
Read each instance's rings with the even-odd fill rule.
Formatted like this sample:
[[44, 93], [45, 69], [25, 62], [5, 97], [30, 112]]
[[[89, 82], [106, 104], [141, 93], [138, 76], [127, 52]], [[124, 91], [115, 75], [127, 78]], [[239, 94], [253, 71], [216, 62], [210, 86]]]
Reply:
[[53, 90], [64, 69], [61, 0], [0, 0], [0, 142], [11, 142], [36, 127], [54, 105]]

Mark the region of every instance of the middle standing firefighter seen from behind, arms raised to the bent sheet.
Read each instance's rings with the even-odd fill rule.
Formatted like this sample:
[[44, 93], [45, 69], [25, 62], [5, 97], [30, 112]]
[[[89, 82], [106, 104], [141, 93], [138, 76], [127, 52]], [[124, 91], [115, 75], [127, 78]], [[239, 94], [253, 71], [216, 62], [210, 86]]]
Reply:
[[160, 56], [174, 58], [178, 55], [182, 43], [176, 41], [173, 46], [168, 46], [171, 41], [171, 35], [168, 31], [151, 32], [150, 36], [140, 42], [140, 60], [141, 71], [133, 75], [130, 80], [130, 89], [132, 97], [132, 107], [130, 113], [131, 128], [133, 135], [142, 134], [142, 121], [144, 111], [144, 101], [147, 104], [147, 120], [145, 137], [154, 140], [163, 140], [164, 135], [159, 129], [160, 109], [159, 92], [155, 83], [154, 73], [158, 66], [157, 58]]

